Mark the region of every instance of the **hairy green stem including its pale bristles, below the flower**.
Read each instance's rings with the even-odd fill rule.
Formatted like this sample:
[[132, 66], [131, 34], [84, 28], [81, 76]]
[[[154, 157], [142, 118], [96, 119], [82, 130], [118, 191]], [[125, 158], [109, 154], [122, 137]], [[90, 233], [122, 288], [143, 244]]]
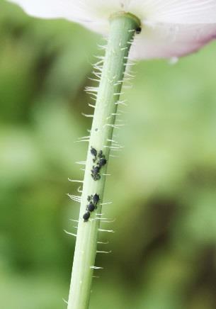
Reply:
[[[127, 64], [127, 61], [128, 52], [138, 27], [140, 27], [139, 19], [130, 13], [118, 13], [110, 18], [110, 38], [106, 40], [105, 45], [98, 45], [101, 50], [106, 50], [106, 55], [105, 57], [96, 56], [98, 61], [93, 64], [93, 74], [96, 78], [90, 78], [93, 82], [99, 83], [99, 86], [86, 87], [86, 93], [90, 94], [91, 100], [96, 102], [96, 105], [88, 103], [89, 107], [95, 110], [92, 128], [88, 130], [90, 136], [81, 137], [78, 140], [78, 142], [89, 143], [86, 162], [78, 162], [78, 164], [86, 166], [84, 181], [69, 179], [69, 181], [83, 184], [83, 188], [81, 196], [69, 194], [69, 197], [74, 201], [81, 201], [81, 210], [68, 309], [89, 308], [93, 270], [103, 269], [103, 267], [94, 266], [96, 253], [110, 253], [110, 251], [97, 249], [98, 244], [105, 245], [107, 243], [98, 242], [98, 232], [114, 232], [114, 230], [100, 227], [100, 223], [114, 221], [105, 218], [101, 212], [102, 206], [112, 203], [103, 203], [104, 185], [106, 177], [110, 175], [107, 173], [106, 163], [110, 157], [118, 157], [110, 152], [123, 149], [123, 146], [113, 139], [113, 130], [120, 129], [125, 125], [122, 123], [123, 120], [115, 118], [124, 113], [123, 111], [117, 112], [118, 107], [127, 106], [125, 101], [120, 100], [119, 97], [123, 94], [123, 80], [133, 77], [128, 72], [134, 63]], [[125, 70], [127, 71], [125, 72]], [[83, 113], [83, 115], [92, 118], [91, 113]], [[93, 150], [96, 150], [96, 154], [93, 153]], [[101, 157], [98, 157], [98, 154]], [[98, 205], [92, 201], [91, 197], [94, 193], [100, 196]]]

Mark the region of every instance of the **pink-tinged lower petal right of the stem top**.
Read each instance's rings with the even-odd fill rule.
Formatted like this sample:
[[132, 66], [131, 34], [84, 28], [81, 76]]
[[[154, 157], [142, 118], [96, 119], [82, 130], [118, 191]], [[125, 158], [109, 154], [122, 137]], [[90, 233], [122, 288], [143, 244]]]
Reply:
[[181, 57], [216, 38], [215, 24], [158, 23], [137, 35], [130, 57], [135, 59]]

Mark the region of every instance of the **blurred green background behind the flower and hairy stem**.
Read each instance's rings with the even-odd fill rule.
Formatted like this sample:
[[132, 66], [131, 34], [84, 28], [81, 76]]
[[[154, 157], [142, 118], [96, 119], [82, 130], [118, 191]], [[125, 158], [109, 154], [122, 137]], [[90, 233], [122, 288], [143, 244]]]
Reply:
[[[98, 35], [0, 8], [0, 307], [66, 308]], [[104, 208], [90, 308], [216, 308], [216, 43], [139, 62]]]

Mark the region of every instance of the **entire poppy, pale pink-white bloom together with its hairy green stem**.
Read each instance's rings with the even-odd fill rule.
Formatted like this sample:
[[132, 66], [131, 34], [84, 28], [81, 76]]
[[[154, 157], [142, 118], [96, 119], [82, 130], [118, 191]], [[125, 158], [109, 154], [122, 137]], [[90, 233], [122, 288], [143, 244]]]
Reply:
[[[216, 0], [10, 0], [28, 14], [40, 18], [65, 18], [103, 35], [109, 35], [105, 57], [95, 64], [98, 87], [89, 87], [95, 105], [81, 196], [69, 195], [81, 203], [76, 237], [68, 309], [89, 308], [98, 232], [109, 222], [101, 213], [108, 161], [111, 150], [120, 146], [113, 141], [113, 129], [128, 53], [135, 59], [181, 57], [199, 50], [216, 38]], [[115, 18], [114, 18], [114, 17]], [[131, 47], [132, 44], [132, 47]], [[131, 47], [131, 49], [130, 49]], [[114, 143], [114, 144], [112, 144]], [[81, 162], [83, 164], [83, 162]], [[129, 188], [130, 189], [130, 188]], [[116, 190], [116, 188], [115, 188]], [[94, 201], [95, 200], [95, 201]], [[100, 203], [98, 201], [100, 200]], [[87, 207], [86, 207], [87, 204]], [[99, 242], [100, 243], [100, 242]], [[103, 243], [103, 242], [102, 242]]]

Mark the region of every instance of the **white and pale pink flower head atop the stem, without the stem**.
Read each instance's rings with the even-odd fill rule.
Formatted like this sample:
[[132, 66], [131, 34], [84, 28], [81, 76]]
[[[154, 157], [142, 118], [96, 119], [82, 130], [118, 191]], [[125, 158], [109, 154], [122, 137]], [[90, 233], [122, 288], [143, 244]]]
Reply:
[[142, 21], [134, 58], [180, 57], [216, 38], [216, 0], [9, 0], [32, 16], [66, 18], [106, 34], [111, 14], [130, 12]]

